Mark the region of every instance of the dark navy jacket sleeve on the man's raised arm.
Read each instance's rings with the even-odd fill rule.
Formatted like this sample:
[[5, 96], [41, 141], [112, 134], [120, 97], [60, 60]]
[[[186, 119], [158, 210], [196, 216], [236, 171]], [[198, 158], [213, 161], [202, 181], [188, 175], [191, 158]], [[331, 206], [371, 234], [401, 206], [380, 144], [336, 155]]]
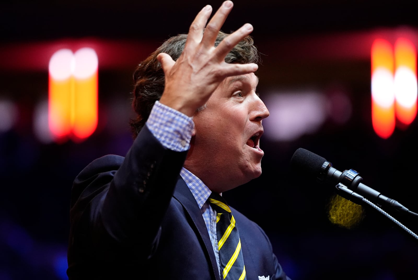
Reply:
[[103, 258], [148, 257], [186, 155], [144, 126], [125, 158], [107, 155], [82, 170], [71, 194], [69, 258], [71, 247]]

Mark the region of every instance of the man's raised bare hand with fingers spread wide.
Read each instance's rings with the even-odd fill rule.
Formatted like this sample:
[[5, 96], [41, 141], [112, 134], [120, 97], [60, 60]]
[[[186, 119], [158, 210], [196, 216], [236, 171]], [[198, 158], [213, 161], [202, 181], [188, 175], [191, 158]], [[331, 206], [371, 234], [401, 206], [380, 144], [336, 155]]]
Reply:
[[224, 61], [229, 51], [252, 32], [250, 23], [231, 33], [216, 48], [214, 46], [232, 6], [230, 0], [222, 3], [205, 28], [212, 13], [212, 7], [206, 5], [191, 23], [186, 45], [176, 62], [166, 53], [158, 55], [165, 74], [165, 87], [160, 99], [162, 104], [193, 116], [224, 78], [248, 74], [258, 69], [255, 63], [228, 64]]

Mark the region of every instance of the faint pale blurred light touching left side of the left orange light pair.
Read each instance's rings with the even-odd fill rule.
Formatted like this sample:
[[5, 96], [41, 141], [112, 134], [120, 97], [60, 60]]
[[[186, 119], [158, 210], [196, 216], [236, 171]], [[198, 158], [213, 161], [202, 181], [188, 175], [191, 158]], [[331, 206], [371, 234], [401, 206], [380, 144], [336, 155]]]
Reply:
[[48, 126], [48, 100], [38, 102], [33, 110], [33, 133], [43, 144], [54, 141]]

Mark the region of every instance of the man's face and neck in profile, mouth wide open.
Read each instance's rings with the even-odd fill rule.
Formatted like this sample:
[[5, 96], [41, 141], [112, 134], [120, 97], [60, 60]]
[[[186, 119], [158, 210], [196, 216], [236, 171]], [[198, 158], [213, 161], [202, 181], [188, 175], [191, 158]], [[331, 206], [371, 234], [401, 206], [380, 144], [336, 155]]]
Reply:
[[261, 121], [269, 112], [254, 73], [226, 78], [193, 117], [196, 134], [185, 167], [218, 193], [261, 175]]

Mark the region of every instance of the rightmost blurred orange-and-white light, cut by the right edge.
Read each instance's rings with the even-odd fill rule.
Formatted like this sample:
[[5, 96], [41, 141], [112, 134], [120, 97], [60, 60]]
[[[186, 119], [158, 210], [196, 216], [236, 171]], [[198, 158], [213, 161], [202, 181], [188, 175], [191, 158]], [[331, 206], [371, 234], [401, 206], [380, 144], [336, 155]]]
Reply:
[[395, 115], [408, 126], [417, 113], [417, 55], [415, 46], [404, 38], [395, 42]]

